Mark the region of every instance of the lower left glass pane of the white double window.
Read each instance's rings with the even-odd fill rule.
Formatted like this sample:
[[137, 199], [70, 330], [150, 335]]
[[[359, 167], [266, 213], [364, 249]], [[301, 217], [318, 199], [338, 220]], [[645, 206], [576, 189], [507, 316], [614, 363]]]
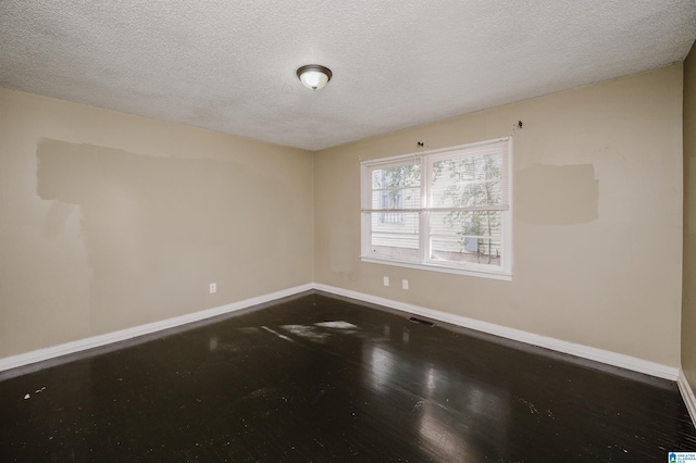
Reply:
[[370, 215], [370, 254], [372, 256], [399, 261], [419, 260], [418, 213], [373, 212]]

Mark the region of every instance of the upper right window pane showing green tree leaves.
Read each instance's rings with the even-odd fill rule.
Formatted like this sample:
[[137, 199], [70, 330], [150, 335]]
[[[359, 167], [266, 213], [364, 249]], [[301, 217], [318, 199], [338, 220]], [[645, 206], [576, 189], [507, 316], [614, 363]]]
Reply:
[[432, 167], [431, 207], [470, 208], [501, 204], [501, 155], [435, 161]]

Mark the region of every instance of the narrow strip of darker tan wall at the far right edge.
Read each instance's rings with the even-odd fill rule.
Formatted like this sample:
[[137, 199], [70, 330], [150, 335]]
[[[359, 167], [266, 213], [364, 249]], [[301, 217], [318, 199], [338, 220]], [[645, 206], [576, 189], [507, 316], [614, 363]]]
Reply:
[[682, 370], [696, 390], [696, 47], [684, 62], [684, 289]]

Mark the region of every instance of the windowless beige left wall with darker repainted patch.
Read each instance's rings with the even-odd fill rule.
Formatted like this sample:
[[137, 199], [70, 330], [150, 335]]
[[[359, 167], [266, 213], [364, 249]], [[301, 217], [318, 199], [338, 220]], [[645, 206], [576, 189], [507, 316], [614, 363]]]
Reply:
[[311, 283], [312, 162], [0, 89], [0, 358]]

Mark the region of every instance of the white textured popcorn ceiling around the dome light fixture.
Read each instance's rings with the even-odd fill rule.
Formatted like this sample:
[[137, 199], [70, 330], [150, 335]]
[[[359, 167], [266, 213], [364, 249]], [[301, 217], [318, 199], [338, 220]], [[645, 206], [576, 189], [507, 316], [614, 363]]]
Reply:
[[[0, 86], [319, 150], [684, 60], [696, 0], [0, 0]], [[321, 91], [295, 74], [323, 64]]]

